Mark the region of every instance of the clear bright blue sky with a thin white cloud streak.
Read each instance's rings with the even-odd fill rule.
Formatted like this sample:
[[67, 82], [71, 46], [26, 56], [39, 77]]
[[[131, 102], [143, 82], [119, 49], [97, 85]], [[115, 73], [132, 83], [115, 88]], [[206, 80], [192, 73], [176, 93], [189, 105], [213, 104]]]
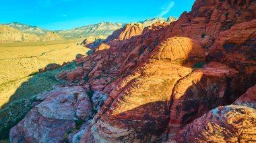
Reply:
[[101, 21], [131, 23], [179, 17], [195, 0], [0, 0], [0, 23], [20, 22], [67, 30]]

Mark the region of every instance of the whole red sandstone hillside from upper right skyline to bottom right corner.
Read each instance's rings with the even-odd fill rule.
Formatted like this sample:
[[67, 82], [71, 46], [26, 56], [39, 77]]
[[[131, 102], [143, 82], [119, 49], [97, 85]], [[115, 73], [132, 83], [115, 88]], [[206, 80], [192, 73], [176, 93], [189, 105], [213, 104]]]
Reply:
[[79, 141], [253, 141], [255, 8], [251, 0], [197, 0], [177, 21], [127, 25], [78, 58], [80, 67], [57, 79], [107, 97], [84, 119]]

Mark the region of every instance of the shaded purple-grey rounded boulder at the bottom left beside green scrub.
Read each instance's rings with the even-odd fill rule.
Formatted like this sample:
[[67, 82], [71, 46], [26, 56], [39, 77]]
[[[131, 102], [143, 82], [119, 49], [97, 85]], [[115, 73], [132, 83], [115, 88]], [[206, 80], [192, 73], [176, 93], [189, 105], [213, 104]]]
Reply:
[[92, 110], [82, 87], [57, 87], [38, 95], [42, 101], [17, 126], [11, 128], [11, 142], [63, 142], [65, 132], [75, 128]]

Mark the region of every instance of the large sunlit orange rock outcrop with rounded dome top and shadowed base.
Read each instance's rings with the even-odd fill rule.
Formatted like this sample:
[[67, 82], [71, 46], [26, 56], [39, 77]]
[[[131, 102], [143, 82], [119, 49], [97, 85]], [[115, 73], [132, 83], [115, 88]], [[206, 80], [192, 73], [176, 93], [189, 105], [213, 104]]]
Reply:
[[110, 93], [108, 100], [113, 103], [101, 110], [102, 115], [92, 126], [90, 138], [95, 142], [160, 139], [168, 125], [172, 89], [179, 79], [192, 71], [179, 63], [192, 58], [203, 60], [203, 57], [203, 49], [197, 42], [189, 38], [168, 38], [144, 59], [148, 62], [122, 79]]

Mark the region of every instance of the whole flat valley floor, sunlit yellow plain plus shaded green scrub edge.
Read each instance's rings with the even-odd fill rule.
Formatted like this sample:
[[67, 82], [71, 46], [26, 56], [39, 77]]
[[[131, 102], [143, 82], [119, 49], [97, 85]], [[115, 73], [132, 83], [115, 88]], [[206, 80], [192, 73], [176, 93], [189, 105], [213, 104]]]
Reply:
[[9, 130], [32, 109], [32, 102], [40, 101], [34, 98], [35, 95], [51, 90], [55, 85], [65, 84], [64, 81], [57, 81], [55, 76], [77, 66], [71, 62], [44, 73], [34, 71], [50, 63], [71, 61], [77, 54], [88, 51], [77, 48], [69, 40], [67, 43], [38, 43], [0, 44], [0, 140], [8, 138]]

